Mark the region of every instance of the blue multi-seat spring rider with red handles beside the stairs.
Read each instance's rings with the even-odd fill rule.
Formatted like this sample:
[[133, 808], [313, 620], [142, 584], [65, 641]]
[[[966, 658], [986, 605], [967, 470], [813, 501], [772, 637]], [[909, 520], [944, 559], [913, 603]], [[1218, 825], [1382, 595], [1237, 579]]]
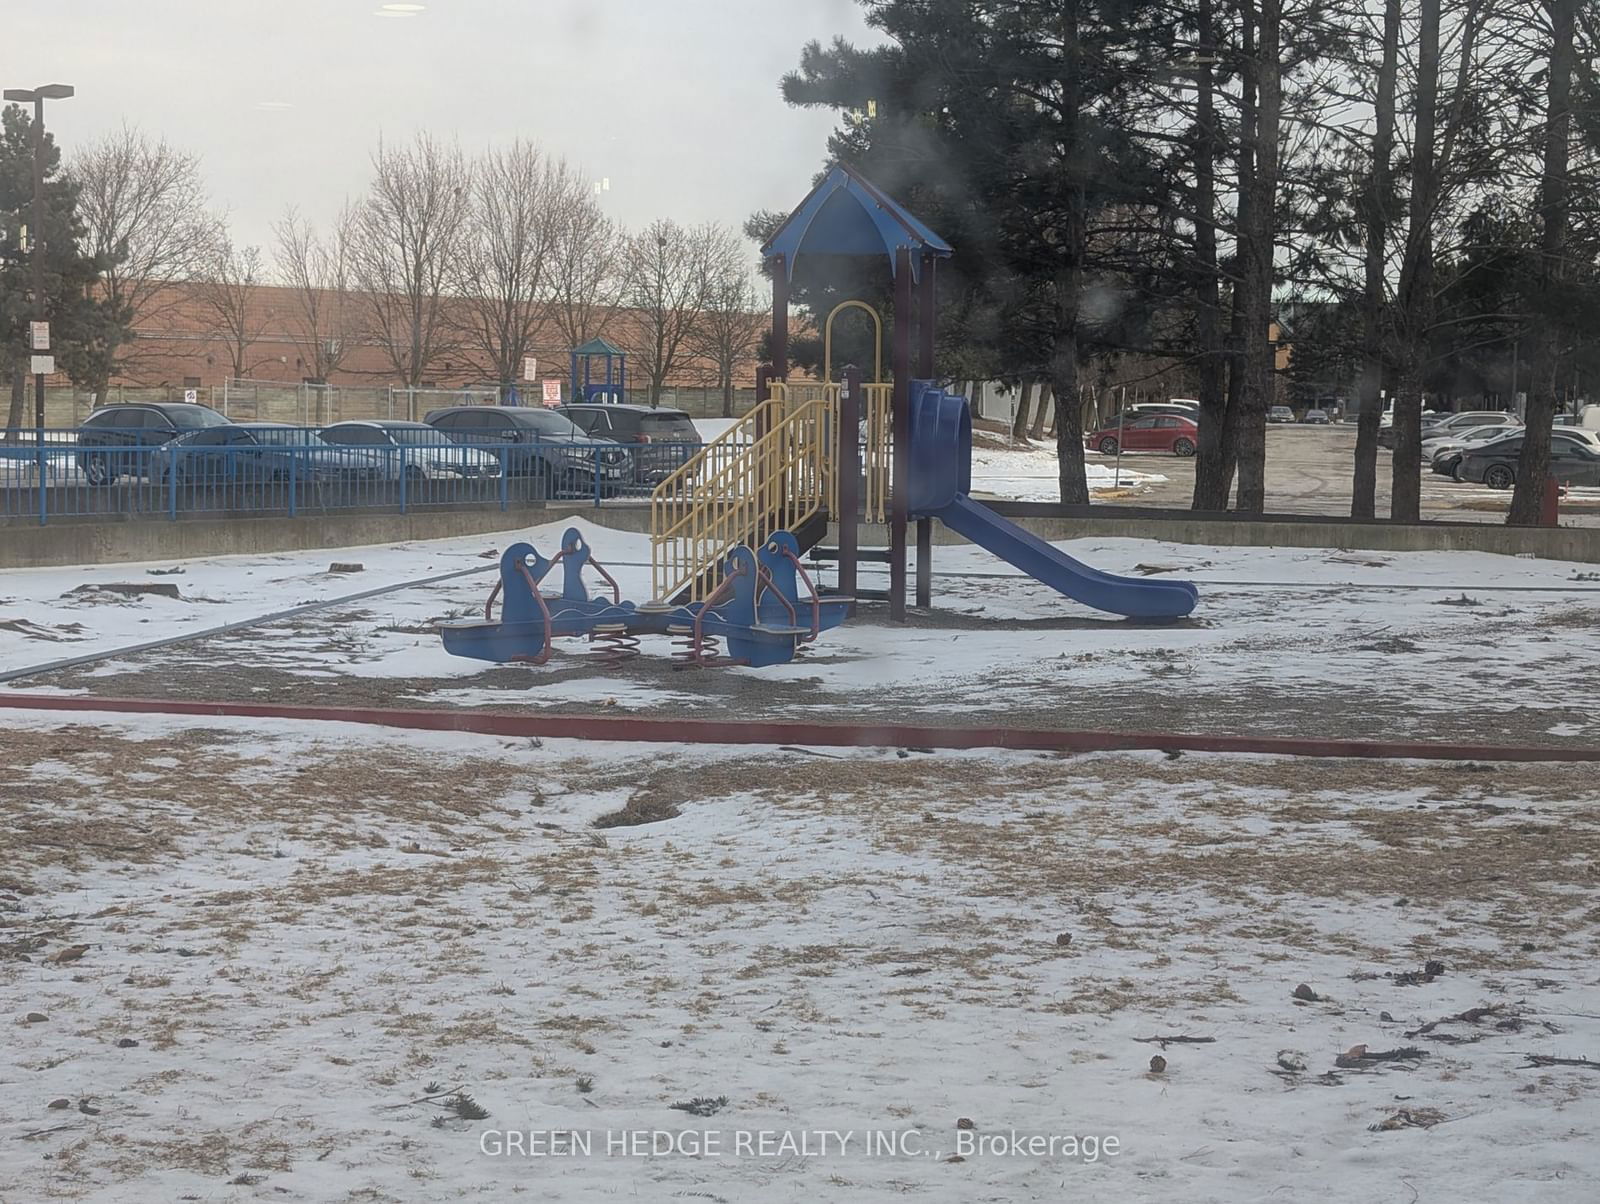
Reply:
[[[562, 589], [547, 597], [542, 584], [557, 565]], [[587, 639], [595, 658], [614, 669], [640, 655], [640, 636], [654, 634], [674, 637], [677, 668], [766, 668], [794, 660], [822, 631], [843, 623], [853, 605], [853, 599], [818, 592], [789, 532], [774, 532], [755, 549], [733, 548], [720, 565], [718, 586], [704, 602], [685, 605], [626, 602], [576, 527], [562, 535], [554, 557], [514, 543], [501, 552], [499, 568], [482, 620], [440, 624], [446, 652], [499, 664], [544, 664], [557, 639]], [[587, 568], [610, 586], [611, 597], [589, 594]], [[808, 591], [803, 597], [802, 583]]]

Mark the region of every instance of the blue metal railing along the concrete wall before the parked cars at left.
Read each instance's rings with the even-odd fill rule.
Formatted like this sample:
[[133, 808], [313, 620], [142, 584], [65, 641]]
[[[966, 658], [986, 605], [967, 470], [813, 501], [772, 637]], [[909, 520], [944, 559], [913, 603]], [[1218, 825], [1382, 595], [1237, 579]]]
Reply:
[[[190, 514], [250, 517], [434, 506], [648, 498], [699, 443], [467, 442], [443, 434], [403, 445], [328, 443], [315, 429], [208, 427], [174, 442], [141, 431], [11, 432], [0, 442], [0, 519]], [[229, 440], [229, 442], [195, 442]]]

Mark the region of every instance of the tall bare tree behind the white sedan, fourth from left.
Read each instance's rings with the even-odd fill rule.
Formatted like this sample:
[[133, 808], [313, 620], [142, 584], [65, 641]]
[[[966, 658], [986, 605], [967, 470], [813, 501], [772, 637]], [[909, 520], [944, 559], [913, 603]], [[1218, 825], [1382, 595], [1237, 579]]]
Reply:
[[379, 144], [373, 183], [350, 224], [350, 264], [371, 335], [405, 384], [422, 384], [456, 331], [445, 312], [470, 208], [472, 171], [461, 149], [430, 134]]

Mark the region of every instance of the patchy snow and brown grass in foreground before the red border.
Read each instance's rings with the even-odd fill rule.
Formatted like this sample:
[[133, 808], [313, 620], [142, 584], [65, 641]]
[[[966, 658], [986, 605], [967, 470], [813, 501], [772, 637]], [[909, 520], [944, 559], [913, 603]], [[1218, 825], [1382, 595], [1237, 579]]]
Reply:
[[8, 1204], [1600, 1193], [1600, 1074], [1538, 1065], [1600, 1054], [1589, 769], [43, 712], [0, 764]]

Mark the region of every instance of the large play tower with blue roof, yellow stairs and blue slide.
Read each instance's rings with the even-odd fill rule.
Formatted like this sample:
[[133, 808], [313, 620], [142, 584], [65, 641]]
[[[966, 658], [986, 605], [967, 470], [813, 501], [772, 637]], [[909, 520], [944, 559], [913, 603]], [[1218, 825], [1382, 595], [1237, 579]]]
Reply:
[[[790, 532], [802, 551], [838, 528], [838, 591], [864, 596], [861, 522], [888, 527], [890, 620], [906, 618], [907, 535], [917, 527], [917, 605], [931, 605], [933, 520], [1058, 592], [1114, 615], [1170, 621], [1198, 594], [1187, 581], [1098, 572], [973, 501], [971, 415], [965, 397], [934, 384], [938, 261], [950, 247], [853, 168], [835, 165], [762, 248], [773, 277], [770, 367], [757, 405], [707, 443], [651, 496], [651, 589], [680, 602], [718, 588], [718, 564], [741, 544]], [[882, 357], [872, 383], [856, 368], [832, 375], [834, 319], [866, 309], [845, 301], [824, 323], [824, 381], [789, 381], [789, 290], [803, 256], [886, 255], [894, 279], [891, 381]], [[915, 295], [915, 296], [914, 296]], [[915, 327], [917, 367], [912, 370]], [[856, 437], [850, 437], [856, 432]]]

